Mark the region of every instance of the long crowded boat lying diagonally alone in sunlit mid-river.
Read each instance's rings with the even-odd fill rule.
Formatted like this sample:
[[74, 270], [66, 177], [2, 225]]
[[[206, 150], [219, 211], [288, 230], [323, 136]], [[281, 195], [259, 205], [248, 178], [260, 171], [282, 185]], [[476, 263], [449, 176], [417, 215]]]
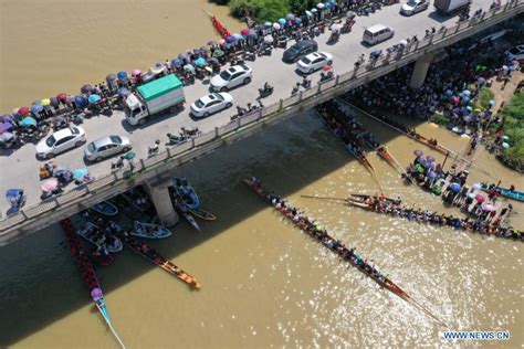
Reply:
[[361, 260], [360, 256], [357, 256], [353, 253], [352, 250], [346, 248], [343, 244], [340, 244], [336, 239], [332, 237], [327, 234], [324, 230], [319, 230], [316, 225], [307, 218], [301, 218], [295, 220], [293, 213], [286, 210], [285, 205], [273, 204], [272, 200], [281, 202], [280, 198], [270, 194], [268, 191], [261, 188], [260, 181], [255, 178], [244, 179], [244, 182], [255, 192], [258, 193], [266, 203], [272, 205], [276, 211], [282, 213], [286, 219], [289, 219], [295, 226], [300, 230], [308, 233], [316, 241], [319, 241], [324, 246], [328, 247], [332, 252], [338, 254], [343, 260], [349, 262], [352, 265], [356, 266], [358, 271], [364, 273], [365, 275], [369, 276], [380, 286], [389, 289], [390, 292], [395, 293], [399, 297], [410, 300], [411, 297], [397, 284], [390, 281], [387, 276], [384, 276], [375, 266], [369, 265], [365, 261]]

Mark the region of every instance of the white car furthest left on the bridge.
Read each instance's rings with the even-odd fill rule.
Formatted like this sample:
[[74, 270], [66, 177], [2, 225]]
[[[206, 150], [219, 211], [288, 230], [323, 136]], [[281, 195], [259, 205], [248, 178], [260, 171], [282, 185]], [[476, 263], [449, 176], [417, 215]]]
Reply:
[[54, 158], [57, 154], [82, 146], [87, 139], [80, 126], [61, 129], [39, 141], [36, 155], [43, 159]]

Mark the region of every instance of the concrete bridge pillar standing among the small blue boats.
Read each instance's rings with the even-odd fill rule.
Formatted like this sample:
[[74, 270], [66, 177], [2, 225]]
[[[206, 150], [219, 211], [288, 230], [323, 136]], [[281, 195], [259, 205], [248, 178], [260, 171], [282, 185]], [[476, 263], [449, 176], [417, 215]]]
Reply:
[[172, 184], [171, 179], [169, 177], [161, 178], [154, 182], [146, 182], [146, 184], [160, 222], [166, 226], [177, 224], [179, 218], [168, 190], [168, 187]]

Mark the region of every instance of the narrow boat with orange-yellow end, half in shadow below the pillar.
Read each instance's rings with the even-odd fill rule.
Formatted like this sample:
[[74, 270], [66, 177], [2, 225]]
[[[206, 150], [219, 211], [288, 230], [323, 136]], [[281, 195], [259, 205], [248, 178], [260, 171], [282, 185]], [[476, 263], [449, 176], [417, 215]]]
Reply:
[[189, 286], [195, 287], [196, 289], [200, 289], [201, 285], [193, 276], [189, 275], [176, 264], [163, 257], [156, 250], [149, 247], [146, 243], [138, 241], [137, 239], [130, 236], [127, 233], [120, 233], [119, 237], [122, 239], [124, 244], [136, 254], [139, 254], [140, 256], [157, 265], [170, 275], [178, 277]]

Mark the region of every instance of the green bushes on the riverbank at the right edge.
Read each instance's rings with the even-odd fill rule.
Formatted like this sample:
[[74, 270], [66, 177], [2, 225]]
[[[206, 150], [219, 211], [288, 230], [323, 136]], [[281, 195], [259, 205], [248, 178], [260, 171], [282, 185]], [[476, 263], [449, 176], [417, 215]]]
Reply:
[[501, 130], [510, 137], [510, 148], [503, 149], [502, 160], [513, 168], [524, 169], [524, 94], [513, 96], [499, 114]]

